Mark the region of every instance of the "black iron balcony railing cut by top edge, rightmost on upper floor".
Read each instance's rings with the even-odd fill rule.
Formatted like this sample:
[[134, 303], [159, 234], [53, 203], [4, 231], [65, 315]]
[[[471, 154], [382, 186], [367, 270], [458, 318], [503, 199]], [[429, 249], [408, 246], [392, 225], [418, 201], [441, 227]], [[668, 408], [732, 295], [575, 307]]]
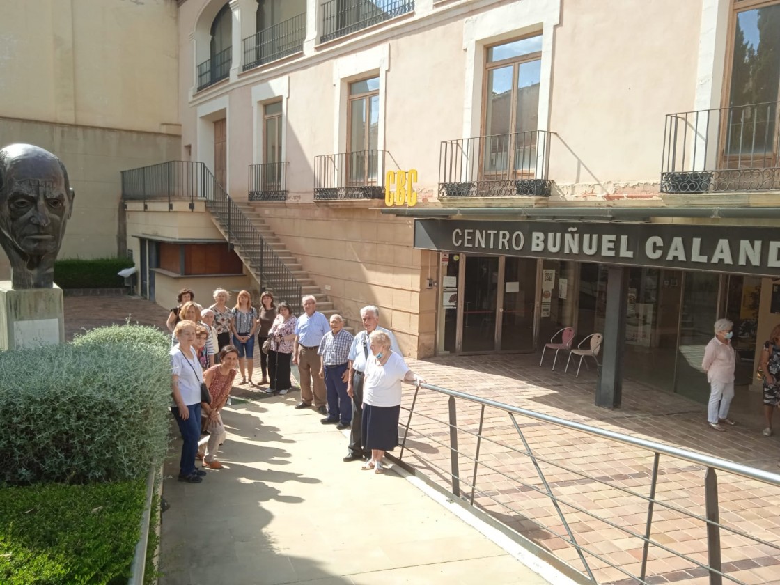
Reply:
[[320, 41], [332, 41], [413, 10], [414, 0], [328, 0], [322, 4]]

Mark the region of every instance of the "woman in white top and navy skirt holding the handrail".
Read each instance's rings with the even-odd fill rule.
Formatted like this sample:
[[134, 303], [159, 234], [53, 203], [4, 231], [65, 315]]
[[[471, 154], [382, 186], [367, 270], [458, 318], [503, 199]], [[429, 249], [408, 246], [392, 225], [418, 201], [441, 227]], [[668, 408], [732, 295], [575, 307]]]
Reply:
[[363, 442], [371, 449], [371, 459], [364, 470], [383, 473], [385, 451], [398, 446], [398, 420], [401, 414], [402, 381], [424, 382], [409, 369], [391, 347], [388, 334], [374, 331], [369, 335], [371, 353], [366, 360], [363, 381]]

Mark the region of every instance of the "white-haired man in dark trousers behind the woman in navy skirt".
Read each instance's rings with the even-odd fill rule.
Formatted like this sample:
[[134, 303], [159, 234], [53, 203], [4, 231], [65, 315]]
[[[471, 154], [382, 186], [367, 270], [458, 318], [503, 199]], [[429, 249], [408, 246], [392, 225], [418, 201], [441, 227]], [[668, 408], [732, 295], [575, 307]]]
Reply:
[[331, 331], [326, 333], [317, 352], [322, 358], [320, 378], [325, 381], [328, 395], [328, 416], [320, 422], [335, 424], [336, 428], [349, 428], [352, 420], [352, 401], [346, 393], [346, 382], [349, 379], [349, 348], [353, 337], [344, 330], [344, 320], [341, 315], [331, 317]]

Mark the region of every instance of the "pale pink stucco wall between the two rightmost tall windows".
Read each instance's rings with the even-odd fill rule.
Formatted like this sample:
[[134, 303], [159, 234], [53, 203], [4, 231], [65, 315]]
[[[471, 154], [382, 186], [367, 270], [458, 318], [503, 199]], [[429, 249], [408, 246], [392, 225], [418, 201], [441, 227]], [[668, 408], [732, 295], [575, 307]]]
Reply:
[[693, 109], [700, 20], [700, 2], [564, 2], [551, 179], [584, 193], [589, 183], [603, 193], [598, 183], [658, 182], [665, 115]]

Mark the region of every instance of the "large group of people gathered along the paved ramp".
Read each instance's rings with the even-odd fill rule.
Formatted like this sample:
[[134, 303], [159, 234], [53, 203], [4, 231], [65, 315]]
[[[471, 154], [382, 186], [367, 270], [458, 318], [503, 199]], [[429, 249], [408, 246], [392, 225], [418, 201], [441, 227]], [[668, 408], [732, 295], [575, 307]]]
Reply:
[[[285, 301], [275, 303], [269, 291], [261, 294], [259, 309], [246, 290], [236, 296], [235, 307], [227, 306], [229, 298], [227, 290], [216, 289], [215, 303], [203, 308], [193, 291], [182, 289], [179, 305], [168, 317], [173, 334], [171, 410], [183, 439], [179, 480], [203, 480], [206, 473], [197, 469], [197, 459], [208, 469], [222, 469], [216, 459], [225, 441], [220, 413], [237, 373], [239, 384], [268, 385], [268, 395], [285, 395], [293, 388], [291, 364], [300, 372], [301, 399], [295, 408], [314, 406], [324, 415], [321, 424], [349, 428], [344, 461], [362, 460], [364, 470], [383, 473], [385, 451], [399, 444], [402, 381], [424, 380], [410, 371], [392, 332], [379, 327], [377, 307], [360, 310], [363, 331], [353, 336], [340, 315], [328, 319], [317, 311], [311, 295], [303, 296], [300, 317]], [[257, 384], [256, 347], [264, 348]], [[209, 402], [202, 400], [202, 392], [208, 392]], [[199, 447], [203, 432], [208, 441]]]

